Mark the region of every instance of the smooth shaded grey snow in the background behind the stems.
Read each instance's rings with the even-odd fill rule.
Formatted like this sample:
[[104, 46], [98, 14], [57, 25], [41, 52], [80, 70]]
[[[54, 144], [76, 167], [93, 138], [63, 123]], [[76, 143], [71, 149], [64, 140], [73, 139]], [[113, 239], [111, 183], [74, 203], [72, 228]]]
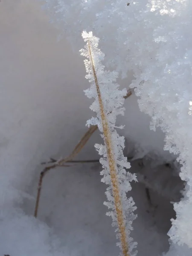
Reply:
[[[57, 42], [57, 36], [40, 3], [1, 0], [0, 255], [116, 256], [99, 163], [50, 171], [38, 218], [33, 217], [41, 162], [67, 156], [92, 116], [91, 101], [83, 93], [89, 86], [83, 58], [65, 38]], [[131, 79], [119, 82], [128, 88]], [[125, 124], [125, 138], [137, 144], [140, 154], [153, 151], [163, 161], [172, 159], [163, 151], [164, 134], [150, 131], [150, 118], [139, 111], [135, 95], [125, 100], [125, 108], [125, 116], [118, 119]], [[77, 159], [99, 159], [94, 144], [100, 141], [96, 131]], [[141, 168], [135, 161], [131, 172]], [[151, 191], [153, 206], [143, 183], [133, 184], [130, 193], [137, 205], [132, 236], [138, 256], [158, 256], [169, 249], [166, 233], [175, 212], [167, 198]]]

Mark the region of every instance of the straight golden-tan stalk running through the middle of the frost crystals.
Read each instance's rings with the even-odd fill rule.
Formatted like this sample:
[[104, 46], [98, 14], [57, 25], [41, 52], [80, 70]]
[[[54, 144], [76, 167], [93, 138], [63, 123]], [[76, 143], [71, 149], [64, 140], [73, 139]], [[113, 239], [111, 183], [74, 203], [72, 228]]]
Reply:
[[119, 233], [120, 233], [120, 240], [121, 240], [121, 245], [122, 245], [122, 253], [123, 256], [129, 256], [128, 253], [128, 243], [127, 243], [127, 236], [126, 236], [126, 231], [125, 231], [125, 221], [123, 217], [123, 209], [122, 209], [122, 201], [119, 193], [119, 181], [117, 177], [117, 172], [116, 172], [116, 162], [113, 154], [113, 144], [111, 140], [111, 134], [108, 126], [108, 120], [105, 115], [105, 110], [102, 102], [102, 96], [101, 92], [99, 89], [99, 83], [97, 80], [96, 76], [96, 70], [95, 70], [95, 65], [92, 57], [92, 52], [91, 52], [91, 47], [90, 47], [90, 41], [88, 40], [88, 46], [89, 46], [89, 54], [90, 54], [90, 61], [93, 69], [93, 76], [95, 79], [95, 84], [96, 84], [96, 90], [97, 90], [97, 95], [99, 99], [99, 108], [101, 112], [101, 119], [102, 119], [102, 128], [103, 128], [103, 134], [104, 134], [104, 140], [105, 140], [105, 146], [107, 149], [107, 156], [108, 156], [108, 164], [109, 164], [109, 169], [110, 169], [110, 175], [111, 175], [111, 184], [112, 184], [112, 189], [113, 189], [113, 198], [114, 198], [114, 204], [115, 204], [115, 209], [116, 209], [116, 217], [117, 217], [117, 222], [119, 226]]

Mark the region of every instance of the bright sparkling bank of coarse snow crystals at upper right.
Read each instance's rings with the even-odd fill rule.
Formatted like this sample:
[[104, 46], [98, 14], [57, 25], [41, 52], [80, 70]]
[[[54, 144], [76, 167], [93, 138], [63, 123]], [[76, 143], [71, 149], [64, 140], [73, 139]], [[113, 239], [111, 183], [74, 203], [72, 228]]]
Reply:
[[[177, 218], [169, 236], [172, 242], [192, 248], [192, 2], [46, 2], [66, 35], [80, 38], [83, 29], [96, 31], [106, 65], [122, 77], [134, 73], [131, 87], [140, 97], [140, 110], [151, 116], [151, 129], [160, 126], [166, 133], [165, 150], [179, 155], [180, 177], [187, 183], [184, 198], [174, 205]], [[78, 40], [71, 41], [78, 47]]]

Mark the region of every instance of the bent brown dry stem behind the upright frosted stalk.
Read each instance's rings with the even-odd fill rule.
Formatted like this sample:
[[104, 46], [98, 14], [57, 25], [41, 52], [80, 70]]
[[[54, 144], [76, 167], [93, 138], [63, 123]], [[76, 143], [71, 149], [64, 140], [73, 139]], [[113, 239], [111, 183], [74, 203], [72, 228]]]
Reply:
[[[127, 99], [129, 96], [131, 96], [132, 94], [132, 90], [128, 90], [127, 95], [124, 97], [125, 99]], [[72, 159], [74, 157], [76, 157], [76, 155], [81, 151], [81, 149], [84, 147], [84, 145], [87, 143], [87, 141], [89, 140], [89, 138], [91, 137], [91, 135], [97, 130], [97, 125], [93, 125], [91, 126], [88, 131], [84, 134], [84, 136], [81, 138], [81, 140], [79, 141], [79, 143], [76, 145], [76, 147], [74, 148], [74, 150], [72, 151], [72, 153], [66, 157], [63, 158], [61, 160], [55, 160], [53, 158], [50, 158], [50, 161], [47, 163], [41, 163], [41, 164], [48, 164], [48, 163], [52, 163], [51, 166], [47, 166], [44, 168], [44, 170], [41, 172], [40, 177], [39, 177], [39, 183], [38, 183], [38, 193], [37, 193], [37, 198], [35, 201], [35, 212], [34, 212], [34, 216], [35, 218], [37, 218], [38, 215], [38, 207], [39, 207], [39, 201], [40, 201], [40, 195], [41, 195], [41, 187], [42, 187], [42, 182], [43, 182], [43, 178], [44, 175], [51, 169], [54, 169], [55, 167], [63, 167], [63, 166], [67, 166], [64, 165], [64, 163], [84, 163], [83, 161], [73, 161]], [[86, 163], [88, 162], [93, 162], [94, 160], [87, 160], [85, 161]], [[98, 160], [95, 160], [96, 162]]]

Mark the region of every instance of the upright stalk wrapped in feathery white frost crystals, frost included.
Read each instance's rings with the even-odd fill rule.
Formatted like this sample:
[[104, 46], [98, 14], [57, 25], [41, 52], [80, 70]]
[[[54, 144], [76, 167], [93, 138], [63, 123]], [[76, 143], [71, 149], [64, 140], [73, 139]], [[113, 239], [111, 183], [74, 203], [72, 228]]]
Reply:
[[137, 181], [136, 175], [126, 172], [125, 168], [130, 168], [127, 158], [124, 157], [122, 149], [125, 147], [125, 138], [117, 134], [115, 128], [116, 116], [124, 114], [124, 96], [127, 90], [119, 90], [119, 85], [115, 83], [118, 77], [117, 72], [104, 70], [101, 61], [104, 54], [98, 49], [99, 38], [93, 36], [92, 32], [83, 32], [82, 37], [87, 43], [81, 49], [81, 55], [87, 57], [84, 60], [87, 75], [90, 81], [90, 88], [85, 90], [88, 98], [95, 98], [90, 109], [96, 112], [96, 117], [87, 121], [87, 126], [97, 125], [102, 132], [105, 145], [96, 144], [95, 147], [100, 155], [103, 170], [102, 182], [108, 186], [106, 195], [108, 202], [105, 205], [111, 209], [107, 215], [112, 217], [113, 226], [116, 227], [117, 243], [121, 249], [122, 256], [136, 255], [133, 251], [137, 243], [130, 237], [132, 221], [137, 217], [134, 215], [134, 201], [127, 198], [126, 193], [131, 190], [130, 182]]

